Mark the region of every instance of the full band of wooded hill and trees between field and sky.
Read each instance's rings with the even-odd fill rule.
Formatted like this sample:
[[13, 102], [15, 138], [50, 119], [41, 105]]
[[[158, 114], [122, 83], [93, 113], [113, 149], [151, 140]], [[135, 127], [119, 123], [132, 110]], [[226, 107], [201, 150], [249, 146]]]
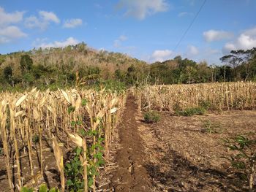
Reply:
[[256, 80], [256, 48], [236, 50], [220, 58], [221, 65], [209, 66], [176, 56], [172, 60], [146, 64], [122, 53], [97, 51], [80, 43], [0, 55], [0, 90], [57, 88], [75, 85], [76, 73], [86, 85], [113, 80], [135, 85], [229, 82]]

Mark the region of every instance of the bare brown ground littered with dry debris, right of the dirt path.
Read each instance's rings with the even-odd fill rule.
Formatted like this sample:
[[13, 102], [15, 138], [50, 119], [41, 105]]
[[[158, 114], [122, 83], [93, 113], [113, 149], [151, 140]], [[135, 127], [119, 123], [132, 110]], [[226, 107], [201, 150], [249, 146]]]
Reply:
[[[206, 120], [218, 125], [215, 132], [206, 131]], [[162, 112], [159, 123], [140, 126], [146, 169], [159, 191], [248, 191], [241, 173], [221, 158], [231, 153], [222, 139], [255, 132], [255, 111], [192, 117]]]

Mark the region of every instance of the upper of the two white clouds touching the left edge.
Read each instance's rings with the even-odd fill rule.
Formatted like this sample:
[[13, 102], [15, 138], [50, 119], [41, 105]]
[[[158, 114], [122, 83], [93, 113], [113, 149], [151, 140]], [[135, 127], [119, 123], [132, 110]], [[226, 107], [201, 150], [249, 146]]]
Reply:
[[0, 7], [0, 26], [7, 26], [10, 23], [18, 23], [23, 20], [24, 12], [12, 12], [8, 13], [4, 11], [4, 8]]

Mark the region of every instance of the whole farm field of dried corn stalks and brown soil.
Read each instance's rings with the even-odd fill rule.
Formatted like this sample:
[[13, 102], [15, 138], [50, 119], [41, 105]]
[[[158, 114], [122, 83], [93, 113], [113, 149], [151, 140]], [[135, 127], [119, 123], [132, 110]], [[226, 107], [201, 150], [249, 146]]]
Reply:
[[[255, 107], [254, 82], [4, 92], [0, 187], [253, 191]], [[232, 150], [238, 135], [249, 140]]]

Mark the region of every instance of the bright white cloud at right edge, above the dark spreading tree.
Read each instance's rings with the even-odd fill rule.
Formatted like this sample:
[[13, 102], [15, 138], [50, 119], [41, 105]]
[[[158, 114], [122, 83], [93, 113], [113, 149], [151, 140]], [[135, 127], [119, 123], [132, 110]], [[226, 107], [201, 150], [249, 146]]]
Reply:
[[256, 47], [256, 27], [243, 31], [233, 42], [227, 42], [223, 47], [223, 53], [230, 50], [249, 50]]

